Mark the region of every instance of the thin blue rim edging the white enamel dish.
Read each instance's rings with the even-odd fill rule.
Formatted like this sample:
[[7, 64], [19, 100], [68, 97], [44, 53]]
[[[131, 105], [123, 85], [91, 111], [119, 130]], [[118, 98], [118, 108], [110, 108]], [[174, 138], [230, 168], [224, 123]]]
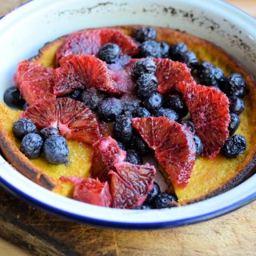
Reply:
[[[13, 10], [10, 10], [7, 14], [0, 17], [0, 20], [4, 18], [6, 15], [10, 14], [14, 10], [17, 10], [18, 8], [25, 6], [27, 3], [33, 2], [34, 0], [29, 0], [27, 2], [23, 2], [20, 6], [17, 6]], [[243, 14], [248, 16], [249, 18], [255, 18], [246, 13], [244, 10], [241, 10], [237, 6], [234, 6], [233, 4], [230, 4], [229, 2], [225, 2], [223, 0], [218, 0], [218, 2], [223, 2], [226, 5], [231, 6], [232, 8], [241, 11]], [[27, 202], [29, 204], [32, 204], [33, 206], [36, 206], [40, 210], [44, 210], [50, 214], [54, 214], [58, 217], [66, 218], [68, 220], [79, 222], [82, 224], [88, 224], [93, 226], [99, 226], [99, 227], [107, 227], [107, 228], [116, 228], [116, 229], [125, 229], [125, 230], [158, 230], [163, 228], [170, 228], [170, 227], [178, 227], [178, 226], [186, 226], [198, 222], [204, 222], [206, 220], [210, 220], [211, 218], [220, 217], [224, 214], [229, 214], [230, 212], [234, 210], [238, 210], [242, 206], [246, 206], [250, 202], [253, 202], [256, 200], [256, 193], [250, 194], [250, 196], [243, 198], [242, 200], [235, 202], [231, 204], [230, 206], [223, 207], [219, 210], [214, 210], [207, 214], [198, 215], [196, 217], [191, 218], [183, 218], [178, 221], [169, 221], [169, 222], [155, 222], [155, 223], [127, 223], [127, 222], [110, 222], [110, 221], [103, 221], [101, 219], [97, 218], [89, 218], [86, 216], [81, 216], [78, 214], [73, 214], [70, 212], [66, 212], [65, 210], [60, 210], [59, 208], [55, 208], [54, 206], [47, 205], [45, 202], [42, 202], [36, 198], [33, 198], [30, 196], [30, 194], [24, 193], [22, 190], [18, 190], [15, 186], [10, 184], [10, 182], [7, 182], [5, 179], [3, 179], [0, 176], [0, 185], [4, 187], [6, 190], [8, 190], [11, 194], [14, 194], [16, 197], [21, 198], [24, 202]]]

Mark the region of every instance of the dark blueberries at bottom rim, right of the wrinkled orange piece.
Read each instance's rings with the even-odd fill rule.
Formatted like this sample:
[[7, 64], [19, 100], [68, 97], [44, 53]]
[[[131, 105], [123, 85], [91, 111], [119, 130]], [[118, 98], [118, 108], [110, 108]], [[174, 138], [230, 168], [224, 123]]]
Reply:
[[161, 192], [160, 186], [154, 182], [153, 190], [147, 195], [142, 206], [135, 206], [134, 210], [163, 209], [178, 206], [177, 198], [173, 194]]

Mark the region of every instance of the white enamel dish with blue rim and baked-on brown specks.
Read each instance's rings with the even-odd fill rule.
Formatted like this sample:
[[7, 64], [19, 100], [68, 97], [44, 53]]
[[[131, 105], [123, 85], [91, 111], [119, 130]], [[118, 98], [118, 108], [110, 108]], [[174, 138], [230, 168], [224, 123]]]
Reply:
[[[46, 42], [86, 27], [143, 24], [186, 30], [206, 38], [256, 70], [256, 20], [215, 0], [34, 0], [0, 20], [0, 99], [13, 86], [18, 62]], [[202, 222], [256, 198], [256, 174], [214, 198], [164, 210], [118, 210], [54, 194], [19, 174], [0, 156], [0, 182], [26, 202], [76, 222], [120, 229], [157, 229]]]

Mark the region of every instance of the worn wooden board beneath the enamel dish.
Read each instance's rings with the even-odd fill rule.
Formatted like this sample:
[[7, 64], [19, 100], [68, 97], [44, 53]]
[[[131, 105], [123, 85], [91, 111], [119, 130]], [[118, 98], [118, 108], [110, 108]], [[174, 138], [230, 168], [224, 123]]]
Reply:
[[[0, 0], [0, 15], [22, 2]], [[255, 1], [228, 2], [256, 14]], [[256, 202], [169, 230], [103, 230], [46, 214], [0, 189], [0, 255], [256, 255]]]

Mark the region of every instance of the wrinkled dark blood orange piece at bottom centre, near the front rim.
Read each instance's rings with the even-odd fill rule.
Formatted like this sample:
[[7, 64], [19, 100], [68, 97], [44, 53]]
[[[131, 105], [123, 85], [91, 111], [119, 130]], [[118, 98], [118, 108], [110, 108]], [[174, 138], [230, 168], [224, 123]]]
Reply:
[[156, 173], [154, 166], [118, 162], [114, 168], [116, 172], [113, 170], [109, 172], [113, 207], [132, 209], [135, 206], [141, 206], [154, 186]]

